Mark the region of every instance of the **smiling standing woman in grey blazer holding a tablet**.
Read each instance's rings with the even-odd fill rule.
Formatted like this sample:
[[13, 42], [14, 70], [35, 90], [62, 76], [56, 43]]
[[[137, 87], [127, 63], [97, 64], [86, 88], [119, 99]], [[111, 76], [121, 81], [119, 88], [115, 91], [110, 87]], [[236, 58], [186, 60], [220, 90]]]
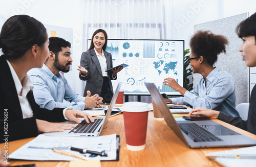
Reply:
[[87, 52], [81, 56], [80, 66], [78, 66], [79, 78], [87, 81], [83, 96], [87, 96], [87, 90], [92, 94], [99, 94], [103, 98], [103, 103], [110, 103], [113, 97], [113, 87], [111, 80], [117, 79], [117, 73], [122, 67], [105, 72], [112, 68], [112, 55], [105, 52], [108, 35], [102, 29], [93, 33], [91, 46]]

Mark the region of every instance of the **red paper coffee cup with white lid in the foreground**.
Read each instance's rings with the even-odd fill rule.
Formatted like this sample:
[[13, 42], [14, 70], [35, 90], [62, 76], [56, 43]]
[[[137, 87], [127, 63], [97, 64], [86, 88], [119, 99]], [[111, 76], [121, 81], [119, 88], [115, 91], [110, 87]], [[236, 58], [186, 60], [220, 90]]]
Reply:
[[140, 151], [145, 148], [148, 106], [141, 102], [123, 104], [123, 120], [128, 150]]

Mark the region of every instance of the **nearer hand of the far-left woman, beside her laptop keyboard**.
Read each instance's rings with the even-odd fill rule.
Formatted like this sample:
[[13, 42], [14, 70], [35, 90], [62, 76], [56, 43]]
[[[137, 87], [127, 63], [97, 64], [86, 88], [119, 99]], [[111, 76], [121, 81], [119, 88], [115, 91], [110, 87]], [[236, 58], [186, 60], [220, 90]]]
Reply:
[[47, 121], [37, 119], [35, 121], [39, 132], [62, 132], [63, 130], [70, 130], [74, 127], [72, 124], [49, 123]]

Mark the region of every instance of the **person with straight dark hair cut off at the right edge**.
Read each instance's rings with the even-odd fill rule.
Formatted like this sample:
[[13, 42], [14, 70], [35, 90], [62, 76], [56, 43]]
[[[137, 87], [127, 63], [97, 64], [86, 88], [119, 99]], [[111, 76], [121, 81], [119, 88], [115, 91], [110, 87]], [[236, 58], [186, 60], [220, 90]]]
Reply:
[[[242, 39], [242, 44], [239, 47], [239, 52], [246, 66], [256, 66], [256, 13], [252, 14], [247, 19], [243, 20], [237, 26], [236, 32], [239, 38]], [[238, 62], [240, 63], [240, 62]], [[217, 118], [228, 124], [244, 129], [250, 133], [256, 134], [256, 86], [251, 90], [250, 106], [248, 111], [248, 119], [242, 120], [241, 117], [233, 117], [220, 110], [210, 110], [205, 108], [195, 108], [190, 111], [189, 116], [206, 116], [209, 118]]]

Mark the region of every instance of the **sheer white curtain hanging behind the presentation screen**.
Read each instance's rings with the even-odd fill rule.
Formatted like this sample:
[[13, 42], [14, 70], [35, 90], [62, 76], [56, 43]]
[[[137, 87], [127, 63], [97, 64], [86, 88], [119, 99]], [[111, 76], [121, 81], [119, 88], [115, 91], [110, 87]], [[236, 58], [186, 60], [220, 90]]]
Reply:
[[[87, 39], [97, 29], [104, 29], [109, 39], [170, 39], [166, 27], [170, 25], [170, 3], [169, 0], [84, 1], [83, 51], [87, 51]], [[129, 99], [136, 100], [137, 97]], [[149, 100], [150, 97], [141, 98]]]

